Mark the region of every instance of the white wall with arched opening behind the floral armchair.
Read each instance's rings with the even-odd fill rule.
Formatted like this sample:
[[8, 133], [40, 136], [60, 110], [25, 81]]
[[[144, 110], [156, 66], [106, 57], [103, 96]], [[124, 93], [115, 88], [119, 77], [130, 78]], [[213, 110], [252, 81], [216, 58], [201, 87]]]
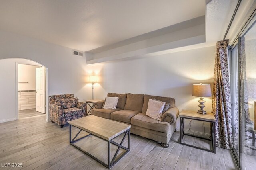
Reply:
[[0, 31], [0, 122], [16, 118], [16, 65], [7, 67], [8, 61], [1, 60], [6, 58], [30, 59], [48, 68], [48, 95], [73, 93], [80, 101], [91, 98], [86, 76], [92, 71], [85, 57], [72, 55], [66, 47]]

